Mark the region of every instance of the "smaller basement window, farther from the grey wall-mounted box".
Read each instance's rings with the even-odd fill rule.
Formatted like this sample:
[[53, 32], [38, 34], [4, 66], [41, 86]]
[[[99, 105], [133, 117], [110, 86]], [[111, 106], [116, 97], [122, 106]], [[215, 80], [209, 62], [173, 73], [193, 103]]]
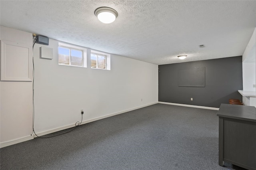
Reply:
[[110, 55], [98, 51], [91, 51], [91, 68], [110, 70]]

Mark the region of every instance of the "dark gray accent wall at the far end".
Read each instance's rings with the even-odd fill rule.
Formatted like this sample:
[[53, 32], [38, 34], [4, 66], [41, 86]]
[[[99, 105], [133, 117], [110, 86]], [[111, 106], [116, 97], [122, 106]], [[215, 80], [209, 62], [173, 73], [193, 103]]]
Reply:
[[[205, 87], [179, 87], [180, 69], [205, 67]], [[220, 107], [228, 99], [240, 99], [243, 89], [242, 56], [158, 66], [158, 101]], [[193, 101], [190, 100], [193, 98]]]

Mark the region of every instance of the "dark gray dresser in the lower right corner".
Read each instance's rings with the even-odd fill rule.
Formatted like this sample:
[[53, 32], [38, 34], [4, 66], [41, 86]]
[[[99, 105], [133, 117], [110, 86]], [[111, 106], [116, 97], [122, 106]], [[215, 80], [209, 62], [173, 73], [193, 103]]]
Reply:
[[256, 170], [256, 108], [221, 104], [219, 117], [219, 165], [228, 162]]

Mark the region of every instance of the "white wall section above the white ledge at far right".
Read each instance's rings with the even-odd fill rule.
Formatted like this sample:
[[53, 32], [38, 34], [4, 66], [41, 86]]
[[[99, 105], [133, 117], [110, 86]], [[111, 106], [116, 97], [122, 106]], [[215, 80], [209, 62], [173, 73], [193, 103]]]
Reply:
[[243, 90], [255, 91], [256, 84], [256, 28], [243, 53]]

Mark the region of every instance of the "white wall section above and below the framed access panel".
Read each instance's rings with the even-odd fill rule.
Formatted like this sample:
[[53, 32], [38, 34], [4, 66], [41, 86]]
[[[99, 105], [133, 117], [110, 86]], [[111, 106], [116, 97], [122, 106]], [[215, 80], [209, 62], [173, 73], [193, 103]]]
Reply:
[[[32, 45], [30, 33], [1, 26], [0, 34], [1, 40]], [[31, 139], [32, 82], [0, 81], [0, 100], [0, 142]]]

